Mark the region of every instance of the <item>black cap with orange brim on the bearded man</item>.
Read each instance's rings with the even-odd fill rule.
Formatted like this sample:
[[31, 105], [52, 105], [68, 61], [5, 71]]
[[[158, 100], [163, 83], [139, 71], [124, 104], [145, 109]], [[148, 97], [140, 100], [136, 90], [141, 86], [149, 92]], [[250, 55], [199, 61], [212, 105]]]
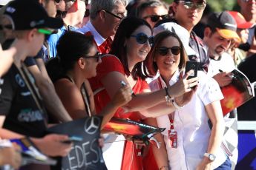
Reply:
[[223, 38], [234, 38], [240, 41], [237, 35], [237, 23], [234, 18], [226, 11], [221, 13], [212, 13], [208, 18], [207, 25], [216, 29]]

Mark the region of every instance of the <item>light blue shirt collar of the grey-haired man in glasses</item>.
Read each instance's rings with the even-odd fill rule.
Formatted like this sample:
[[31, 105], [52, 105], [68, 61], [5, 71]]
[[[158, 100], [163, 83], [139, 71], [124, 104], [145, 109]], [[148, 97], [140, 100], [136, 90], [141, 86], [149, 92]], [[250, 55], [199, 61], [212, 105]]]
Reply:
[[88, 23], [85, 24], [85, 26], [83, 26], [82, 28], [79, 28], [78, 30], [76, 30], [76, 32], [82, 33], [82, 34], [91, 32], [91, 34], [93, 35], [94, 41], [96, 42], [97, 46], [100, 46], [105, 41], [105, 38], [103, 38], [102, 35], [100, 35], [95, 30], [95, 28], [93, 27], [93, 24], [91, 24], [91, 21], [88, 21]]

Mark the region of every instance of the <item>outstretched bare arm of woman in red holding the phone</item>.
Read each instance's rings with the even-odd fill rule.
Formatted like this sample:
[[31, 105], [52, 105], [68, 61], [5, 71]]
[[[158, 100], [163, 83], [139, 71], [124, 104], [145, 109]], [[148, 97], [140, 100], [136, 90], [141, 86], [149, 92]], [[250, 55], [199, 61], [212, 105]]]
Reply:
[[[186, 75], [182, 79], [180, 79], [180, 81], [177, 81], [176, 84], [168, 87], [168, 93], [169, 95], [171, 95], [171, 97], [174, 98], [183, 95], [186, 92], [191, 92], [192, 89], [189, 88], [188, 84], [191, 84], [190, 86], [197, 85], [198, 78], [191, 78], [189, 80], [186, 79], [188, 75], [191, 74], [191, 72], [187, 72]], [[125, 83], [128, 84], [125, 76], [122, 75], [120, 72], [110, 72], [108, 73], [108, 75], [105, 75], [105, 77], [102, 78], [101, 82], [103, 86], [105, 86], [105, 89], [107, 90], [108, 95], [110, 95], [111, 98], [114, 97], [117, 89], [122, 86], [120, 84], [120, 81], [125, 81]], [[165, 102], [165, 95], [165, 89], [160, 89], [156, 92], [137, 94], [136, 97], [133, 97], [132, 100], [127, 105], [125, 105], [125, 107], [128, 110], [131, 109], [131, 111], [146, 110], [148, 108], [156, 106], [159, 103]], [[166, 114], [173, 111], [172, 106], [166, 105], [165, 108], [170, 109], [168, 110], [168, 112], [166, 112]]]

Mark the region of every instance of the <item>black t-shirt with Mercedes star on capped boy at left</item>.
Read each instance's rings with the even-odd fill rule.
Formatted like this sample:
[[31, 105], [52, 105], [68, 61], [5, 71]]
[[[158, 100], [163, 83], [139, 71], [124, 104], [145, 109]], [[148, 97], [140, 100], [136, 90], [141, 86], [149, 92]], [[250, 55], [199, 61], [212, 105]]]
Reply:
[[[32, 75], [29, 77], [33, 79]], [[47, 115], [36, 105], [17, 67], [13, 64], [0, 80], [0, 115], [6, 116], [3, 127], [22, 135], [43, 137]]]

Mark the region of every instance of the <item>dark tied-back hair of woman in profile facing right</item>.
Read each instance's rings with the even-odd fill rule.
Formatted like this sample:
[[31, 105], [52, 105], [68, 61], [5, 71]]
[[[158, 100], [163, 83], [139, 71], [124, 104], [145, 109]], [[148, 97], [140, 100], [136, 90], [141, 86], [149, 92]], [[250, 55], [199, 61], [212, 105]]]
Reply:
[[52, 81], [56, 81], [68, 70], [73, 69], [76, 61], [82, 55], [87, 55], [93, 45], [93, 36], [91, 35], [87, 36], [73, 31], [62, 35], [56, 46], [57, 57], [47, 61], [46, 64]]

